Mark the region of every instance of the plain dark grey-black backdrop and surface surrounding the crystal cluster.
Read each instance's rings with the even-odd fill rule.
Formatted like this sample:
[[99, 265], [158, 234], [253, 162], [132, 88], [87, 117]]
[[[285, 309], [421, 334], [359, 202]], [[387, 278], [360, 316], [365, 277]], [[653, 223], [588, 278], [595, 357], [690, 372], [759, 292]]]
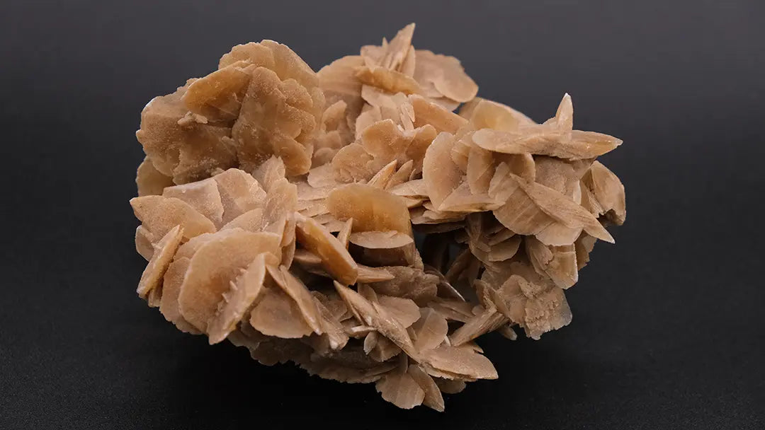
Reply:
[[[220, 3], [215, 5], [213, 3]], [[154, 95], [270, 38], [314, 70], [410, 21], [480, 95], [538, 121], [573, 96], [627, 224], [541, 341], [480, 343], [500, 379], [402, 411], [263, 367], [135, 295], [135, 141]], [[0, 428], [763, 428], [765, 5], [11, 2], [0, 7]]]

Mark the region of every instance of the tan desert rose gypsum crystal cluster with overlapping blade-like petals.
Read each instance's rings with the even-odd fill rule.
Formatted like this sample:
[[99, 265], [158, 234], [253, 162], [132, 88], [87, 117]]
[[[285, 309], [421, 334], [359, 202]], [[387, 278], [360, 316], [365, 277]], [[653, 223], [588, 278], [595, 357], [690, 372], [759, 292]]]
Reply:
[[564, 289], [624, 221], [595, 160], [621, 141], [573, 130], [568, 95], [542, 124], [477, 98], [413, 31], [318, 73], [272, 40], [239, 45], [151, 100], [138, 296], [210, 344], [406, 409], [496, 378], [479, 336], [567, 325]]

